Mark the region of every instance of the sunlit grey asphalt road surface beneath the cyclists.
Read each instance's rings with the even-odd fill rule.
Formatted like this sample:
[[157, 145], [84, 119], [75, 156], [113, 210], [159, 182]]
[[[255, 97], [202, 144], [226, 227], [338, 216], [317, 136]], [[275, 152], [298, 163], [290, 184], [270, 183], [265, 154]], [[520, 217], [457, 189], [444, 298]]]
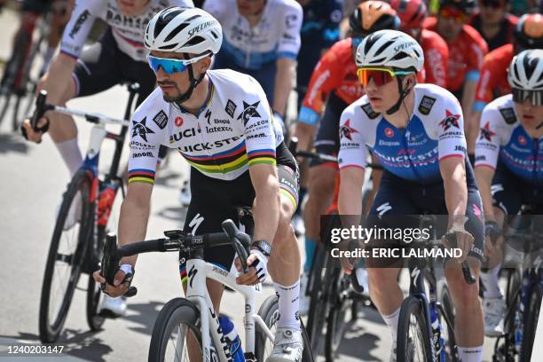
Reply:
[[[14, 12], [0, 14], [0, 59], [8, 57], [17, 25]], [[97, 96], [71, 101], [68, 106], [122, 117], [127, 98], [122, 87], [115, 87]], [[13, 357], [6, 353], [9, 345], [39, 344], [38, 308], [45, 259], [68, 172], [51, 138], [45, 137], [41, 145], [29, 144], [20, 135], [10, 133], [5, 123], [0, 125], [0, 169], [6, 171], [0, 185], [0, 361], [146, 360], [157, 313], [169, 299], [182, 295], [176, 253], [140, 256], [134, 279], [138, 295], [129, 300], [126, 317], [107, 320], [101, 331], [90, 331], [84, 314], [85, 293], [76, 290], [57, 343], [64, 346], [62, 357]], [[78, 120], [78, 128], [79, 143], [85, 150], [91, 126]], [[104, 144], [100, 169], [107, 168], [112, 150], [112, 145]], [[179, 228], [185, 219], [186, 210], [180, 207], [177, 196], [187, 166], [179, 155], [170, 156], [169, 163], [158, 172], [153, 189], [147, 238], [157, 238], [163, 230]], [[303, 240], [300, 245], [303, 247]], [[79, 282], [82, 289], [86, 281], [87, 276], [82, 275]], [[264, 286], [258, 300], [263, 301], [272, 293], [271, 286]], [[240, 305], [243, 305], [240, 295], [225, 293], [221, 311], [236, 326], [242, 326]], [[345, 334], [336, 360], [388, 361], [390, 344], [390, 332], [380, 316], [363, 309]], [[490, 360], [493, 340], [486, 340], [485, 345], [485, 360]]]

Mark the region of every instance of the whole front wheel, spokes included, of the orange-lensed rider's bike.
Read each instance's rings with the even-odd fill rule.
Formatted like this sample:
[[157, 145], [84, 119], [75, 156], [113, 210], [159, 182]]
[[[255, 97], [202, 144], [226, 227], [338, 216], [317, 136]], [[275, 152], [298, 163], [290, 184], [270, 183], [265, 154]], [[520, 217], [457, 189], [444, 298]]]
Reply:
[[397, 362], [429, 362], [431, 348], [428, 324], [421, 301], [408, 296], [400, 309], [397, 324]]

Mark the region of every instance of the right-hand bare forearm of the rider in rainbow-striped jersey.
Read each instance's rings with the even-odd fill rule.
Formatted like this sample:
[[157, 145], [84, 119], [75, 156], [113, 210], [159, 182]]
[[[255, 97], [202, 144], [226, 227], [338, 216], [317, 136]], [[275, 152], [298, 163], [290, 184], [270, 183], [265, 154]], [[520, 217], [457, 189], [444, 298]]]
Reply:
[[255, 232], [253, 240], [273, 242], [279, 224], [279, 181], [271, 165], [254, 165], [249, 169], [255, 188]]

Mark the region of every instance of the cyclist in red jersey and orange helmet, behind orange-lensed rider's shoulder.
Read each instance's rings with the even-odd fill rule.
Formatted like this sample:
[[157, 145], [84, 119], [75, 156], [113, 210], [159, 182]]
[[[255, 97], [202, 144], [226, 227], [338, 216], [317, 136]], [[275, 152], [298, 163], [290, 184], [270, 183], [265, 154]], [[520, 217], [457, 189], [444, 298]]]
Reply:
[[[298, 114], [295, 137], [301, 150], [311, 146], [319, 153], [337, 154], [340, 146], [339, 119], [343, 109], [364, 95], [357, 80], [354, 50], [361, 39], [377, 30], [399, 28], [396, 12], [381, 1], [359, 4], [350, 15], [350, 36], [334, 45], [319, 60], [311, 75], [303, 106]], [[326, 103], [326, 107], [325, 107]], [[321, 112], [324, 108], [324, 114]], [[325, 214], [333, 199], [337, 164], [334, 162], [310, 161], [308, 177], [308, 200], [303, 210], [305, 224], [305, 264], [303, 265], [303, 287], [311, 271], [313, 253], [319, 241], [320, 216]], [[301, 296], [301, 311], [309, 309], [305, 294]]]

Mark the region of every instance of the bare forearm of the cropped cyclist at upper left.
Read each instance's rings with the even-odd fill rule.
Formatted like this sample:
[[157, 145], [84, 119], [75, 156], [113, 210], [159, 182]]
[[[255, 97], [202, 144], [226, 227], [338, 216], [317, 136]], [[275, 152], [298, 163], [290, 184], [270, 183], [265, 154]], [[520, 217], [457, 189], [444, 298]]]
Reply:
[[47, 73], [38, 84], [37, 91], [47, 91], [47, 103], [58, 104], [65, 95], [67, 86], [72, 81], [76, 60], [59, 54], [51, 61]]

